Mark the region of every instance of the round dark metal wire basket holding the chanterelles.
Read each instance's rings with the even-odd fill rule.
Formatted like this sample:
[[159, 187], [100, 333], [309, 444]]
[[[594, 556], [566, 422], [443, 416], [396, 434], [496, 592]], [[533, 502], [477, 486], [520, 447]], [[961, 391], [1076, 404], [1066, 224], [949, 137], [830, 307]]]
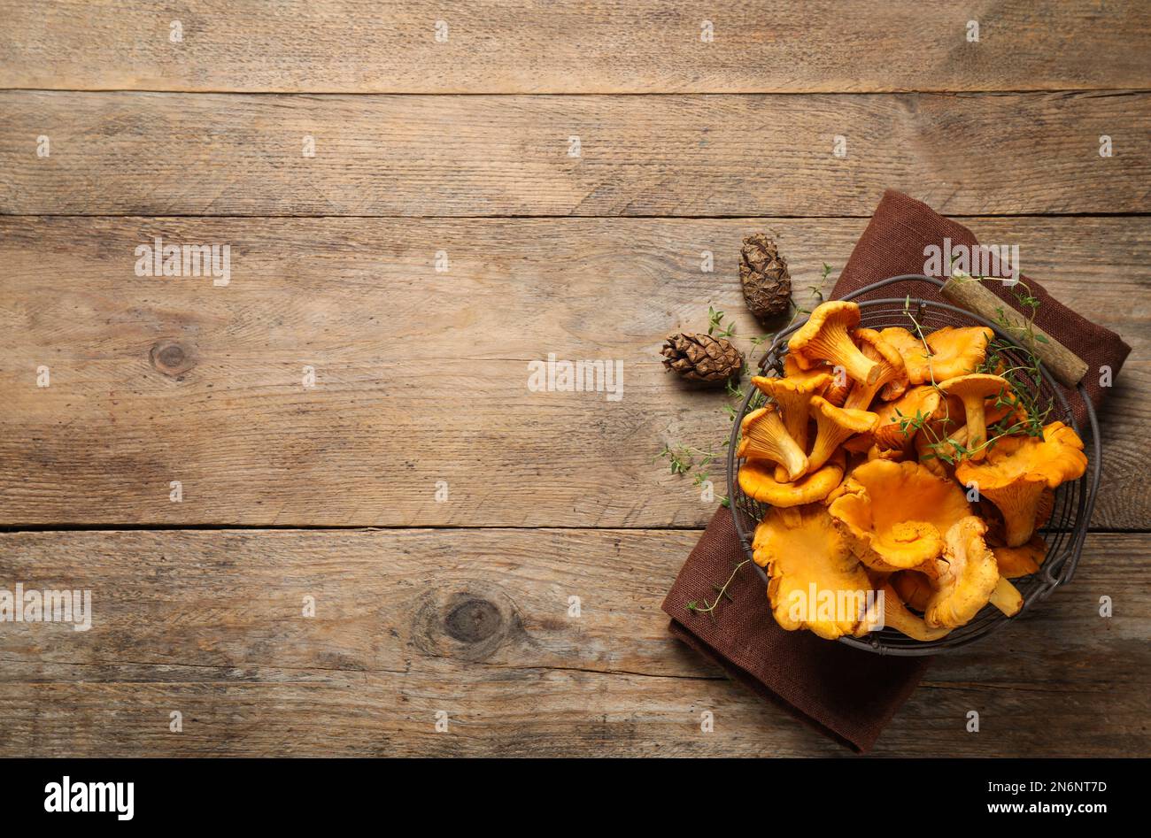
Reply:
[[[882, 288], [901, 282], [922, 282], [942, 288], [940, 280], [920, 274], [906, 274], [881, 280], [870, 285], [866, 285], [857, 291], [844, 296], [841, 299], [855, 299], [871, 294]], [[1030, 355], [1023, 350], [1008, 334], [978, 314], [974, 314], [965, 308], [950, 305], [947, 303], [935, 303], [915, 297], [892, 297], [885, 299], [868, 299], [857, 303], [860, 307], [860, 326], [871, 329], [884, 329], [890, 326], [910, 326], [907, 310], [915, 315], [915, 319], [923, 327], [924, 332], [935, 330], [944, 326], [986, 326], [991, 328], [1000, 342], [1008, 344], [1001, 355], [1011, 364], [1014, 360], [1030, 361]], [[775, 342], [768, 349], [760, 361], [760, 371], [764, 375], [783, 375], [784, 356], [787, 352], [787, 338], [807, 322], [806, 320], [794, 323], [790, 328], [780, 332]], [[1095, 508], [1095, 496], [1099, 487], [1099, 473], [1103, 467], [1103, 455], [1099, 443], [1099, 426], [1096, 420], [1091, 399], [1082, 384], [1078, 386], [1078, 395], [1087, 407], [1087, 418], [1090, 434], [1084, 434], [1083, 428], [1075, 420], [1074, 412], [1064, 390], [1051, 378], [1050, 373], [1039, 365], [1042, 373], [1042, 387], [1036, 393], [1032, 387], [1031, 395], [1036, 396], [1042, 404], [1052, 405], [1047, 421], [1062, 421], [1068, 427], [1075, 429], [1080, 439], [1090, 442], [1084, 448], [1088, 455], [1088, 467], [1083, 477], [1062, 483], [1055, 489], [1055, 502], [1051, 512], [1051, 518], [1046, 525], [1039, 527], [1038, 532], [1047, 542], [1047, 554], [1039, 572], [1031, 576], [1013, 579], [1012, 582], [1023, 595], [1023, 608], [1014, 617], [1006, 617], [994, 605], [985, 605], [974, 619], [967, 625], [953, 630], [950, 634], [939, 640], [921, 641], [895, 631], [894, 628], [883, 628], [871, 632], [862, 638], [841, 637], [839, 642], [854, 646], [859, 649], [867, 649], [881, 655], [935, 655], [943, 652], [958, 649], [968, 643], [1001, 628], [1008, 622], [1017, 619], [1036, 602], [1047, 599], [1051, 593], [1069, 582], [1075, 574], [1075, 565], [1078, 564], [1080, 554], [1083, 550], [1083, 540], [1087, 538], [1088, 523], [1091, 520], [1091, 510]], [[753, 410], [762, 407], [767, 403], [767, 397], [756, 388], [750, 388], [747, 398], [735, 417], [734, 427], [731, 433], [731, 442], [727, 448], [727, 496], [731, 498], [731, 513], [735, 521], [735, 532], [739, 534], [740, 544], [748, 558], [752, 558], [752, 535], [756, 524], [767, 512], [767, 505], [746, 495], [739, 487], [735, 479], [742, 458], [735, 456], [739, 448], [739, 427], [744, 417]], [[756, 572], [768, 581], [768, 574], [759, 564], [752, 563]]]

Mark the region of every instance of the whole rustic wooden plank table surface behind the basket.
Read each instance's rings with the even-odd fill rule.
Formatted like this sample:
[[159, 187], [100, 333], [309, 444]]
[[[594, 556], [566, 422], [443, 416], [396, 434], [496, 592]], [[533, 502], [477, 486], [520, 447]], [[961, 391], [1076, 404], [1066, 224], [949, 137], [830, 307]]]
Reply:
[[0, 624], [0, 754], [845, 753], [668, 635], [715, 502], [654, 458], [729, 421], [657, 353], [709, 303], [749, 349], [741, 237], [802, 304], [894, 188], [1134, 351], [1074, 585], [876, 753], [1148, 755], [1149, 49], [1111, 0], [0, 0], [0, 587], [93, 596]]

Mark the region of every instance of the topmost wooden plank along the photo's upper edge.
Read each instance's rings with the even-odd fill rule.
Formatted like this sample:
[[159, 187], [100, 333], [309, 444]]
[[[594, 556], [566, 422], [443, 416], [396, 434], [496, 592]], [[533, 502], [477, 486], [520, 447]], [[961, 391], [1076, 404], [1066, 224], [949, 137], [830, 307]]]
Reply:
[[[1145, 3], [0, 2], [0, 86], [403, 93], [1151, 85]], [[704, 20], [711, 40], [706, 40]], [[968, 21], [978, 23], [969, 40]], [[173, 40], [171, 24], [181, 24]], [[447, 24], [437, 39], [437, 23]], [[1106, 60], [1100, 60], [1106, 56]]]

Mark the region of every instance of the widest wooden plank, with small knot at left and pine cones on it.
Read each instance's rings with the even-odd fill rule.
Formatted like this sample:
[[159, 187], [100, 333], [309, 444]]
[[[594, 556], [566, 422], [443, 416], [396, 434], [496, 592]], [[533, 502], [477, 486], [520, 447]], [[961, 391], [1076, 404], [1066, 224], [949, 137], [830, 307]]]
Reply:
[[[775, 235], [810, 299], [863, 226], [0, 219], [0, 523], [702, 525], [715, 502], [654, 458], [664, 444], [722, 452], [726, 398], [669, 378], [664, 336], [706, 329], [712, 303], [757, 356], [740, 238]], [[1019, 243], [1026, 272], [1135, 348], [1102, 417], [1095, 525], [1146, 527], [1151, 220], [971, 226]], [[230, 284], [136, 276], [134, 250], [154, 236], [228, 244]], [[527, 364], [549, 353], [622, 360], [620, 401], [531, 391]], [[711, 474], [722, 497], [723, 468]]]

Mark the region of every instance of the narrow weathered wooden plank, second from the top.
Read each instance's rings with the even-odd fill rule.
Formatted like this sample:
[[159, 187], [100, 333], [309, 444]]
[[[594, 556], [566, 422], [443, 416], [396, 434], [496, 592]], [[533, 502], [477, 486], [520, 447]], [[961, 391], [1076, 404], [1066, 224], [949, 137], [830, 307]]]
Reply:
[[1110, 214], [1146, 212], [1151, 182], [1151, 93], [8, 91], [0, 112], [9, 214], [866, 216], [886, 188], [956, 215]]

